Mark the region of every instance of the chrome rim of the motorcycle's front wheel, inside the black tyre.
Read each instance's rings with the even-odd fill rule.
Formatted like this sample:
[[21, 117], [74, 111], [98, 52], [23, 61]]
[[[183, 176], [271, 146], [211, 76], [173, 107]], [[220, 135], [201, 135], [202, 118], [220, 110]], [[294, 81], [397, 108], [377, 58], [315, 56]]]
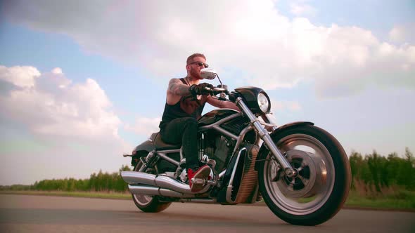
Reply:
[[276, 145], [299, 175], [286, 177], [269, 154], [263, 175], [271, 201], [290, 214], [307, 215], [317, 211], [326, 203], [334, 186], [335, 170], [328, 149], [305, 134], [288, 135]]

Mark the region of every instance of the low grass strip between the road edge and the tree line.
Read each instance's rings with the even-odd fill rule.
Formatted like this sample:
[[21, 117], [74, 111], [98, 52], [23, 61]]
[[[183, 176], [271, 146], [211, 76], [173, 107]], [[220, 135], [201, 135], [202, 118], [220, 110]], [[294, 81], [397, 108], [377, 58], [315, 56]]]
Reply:
[[[63, 192], [63, 191], [10, 191], [1, 190], [0, 194], [42, 195], [58, 197], [87, 197], [101, 199], [125, 199], [130, 200], [131, 194], [118, 192]], [[264, 204], [262, 202], [262, 204]], [[399, 191], [395, 194], [381, 197], [362, 197], [357, 192], [350, 192], [345, 208], [369, 208], [388, 211], [415, 212], [415, 192]]]

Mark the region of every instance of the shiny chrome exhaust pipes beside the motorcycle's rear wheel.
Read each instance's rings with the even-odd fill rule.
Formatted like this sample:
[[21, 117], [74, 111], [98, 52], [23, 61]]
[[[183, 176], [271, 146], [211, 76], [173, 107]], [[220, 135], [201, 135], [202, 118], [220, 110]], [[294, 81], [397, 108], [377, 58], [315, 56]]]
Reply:
[[[167, 191], [173, 191], [179, 194], [192, 194], [192, 195], [195, 194], [190, 191], [189, 185], [186, 185], [183, 182], [179, 182], [178, 180], [175, 180], [166, 175], [153, 175], [153, 174], [143, 173], [139, 171], [122, 171], [121, 176], [125, 182], [129, 183], [129, 187], [141, 187], [143, 192], [153, 192], [147, 189], [148, 185], [151, 185], [152, 187], [155, 187], [156, 189], [160, 188], [161, 191], [158, 191], [158, 192], [165, 192], [167, 194], [174, 194], [172, 192], [167, 192]], [[143, 185], [147, 185], [145, 186], [146, 190], [143, 190], [144, 189]], [[206, 185], [205, 188], [203, 188], [200, 192], [197, 192], [197, 193], [198, 194], [204, 193], [208, 191], [209, 187], [210, 185]], [[136, 192], [138, 192], [139, 189], [140, 188], [137, 188]], [[136, 193], [136, 194], [143, 194], [143, 193]], [[171, 196], [163, 195], [162, 193], [156, 193], [156, 194], [152, 193], [151, 195], [161, 195], [165, 197], [171, 197]], [[174, 195], [177, 195], [177, 194], [174, 194]], [[183, 197], [183, 196], [180, 196], [180, 197]]]

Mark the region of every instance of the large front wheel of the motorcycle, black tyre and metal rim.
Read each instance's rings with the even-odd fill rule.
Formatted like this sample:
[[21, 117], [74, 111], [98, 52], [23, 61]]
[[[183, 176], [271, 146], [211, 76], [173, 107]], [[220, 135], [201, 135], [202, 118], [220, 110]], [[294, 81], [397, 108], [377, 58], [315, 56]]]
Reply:
[[342, 208], [350, 189], [350, 164], [330, 133], [310, 125], [272, 136], [298, 175], [289, 178], [269, 150], [259, 155], [260, 191], [271, 211], [294, 225], [319, 225]]

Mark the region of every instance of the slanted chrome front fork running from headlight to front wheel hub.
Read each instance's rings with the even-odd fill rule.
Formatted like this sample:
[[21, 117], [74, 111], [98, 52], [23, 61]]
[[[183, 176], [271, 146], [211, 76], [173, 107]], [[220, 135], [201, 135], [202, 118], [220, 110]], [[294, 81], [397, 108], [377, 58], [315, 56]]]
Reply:
[[260, 135], [260, 138], [264, 141], [265, 145], [267, 145], [268, 149], [272, 152], [272, 155], [278, 161], [278, 163], [281, 165], [281, 167], [284, 169], [284, 171], [288, 172], [286, 173], [288, 176], [290, 174], [293, 174], [295, 170], [291, 166], [290, 163], [288, 163], [286, 157], [279, 152], [279, 149], [276, 147], [274, 142], [272, 141], [271, 136], [268, 134], [268, 131], [262, 126], [262, 124], [258, 121], [257, 117], [250, 111], [248, 106], [245, 105], [245, 102], [243, 102], [241, 97], [236, 98], [236, 105], [241, 108], [241, 110], [245, 113], [246, 116], [248, 116], [248, 119], [250, 119], [251, 124], [253, 127], [257, 130], [257, 134]]

